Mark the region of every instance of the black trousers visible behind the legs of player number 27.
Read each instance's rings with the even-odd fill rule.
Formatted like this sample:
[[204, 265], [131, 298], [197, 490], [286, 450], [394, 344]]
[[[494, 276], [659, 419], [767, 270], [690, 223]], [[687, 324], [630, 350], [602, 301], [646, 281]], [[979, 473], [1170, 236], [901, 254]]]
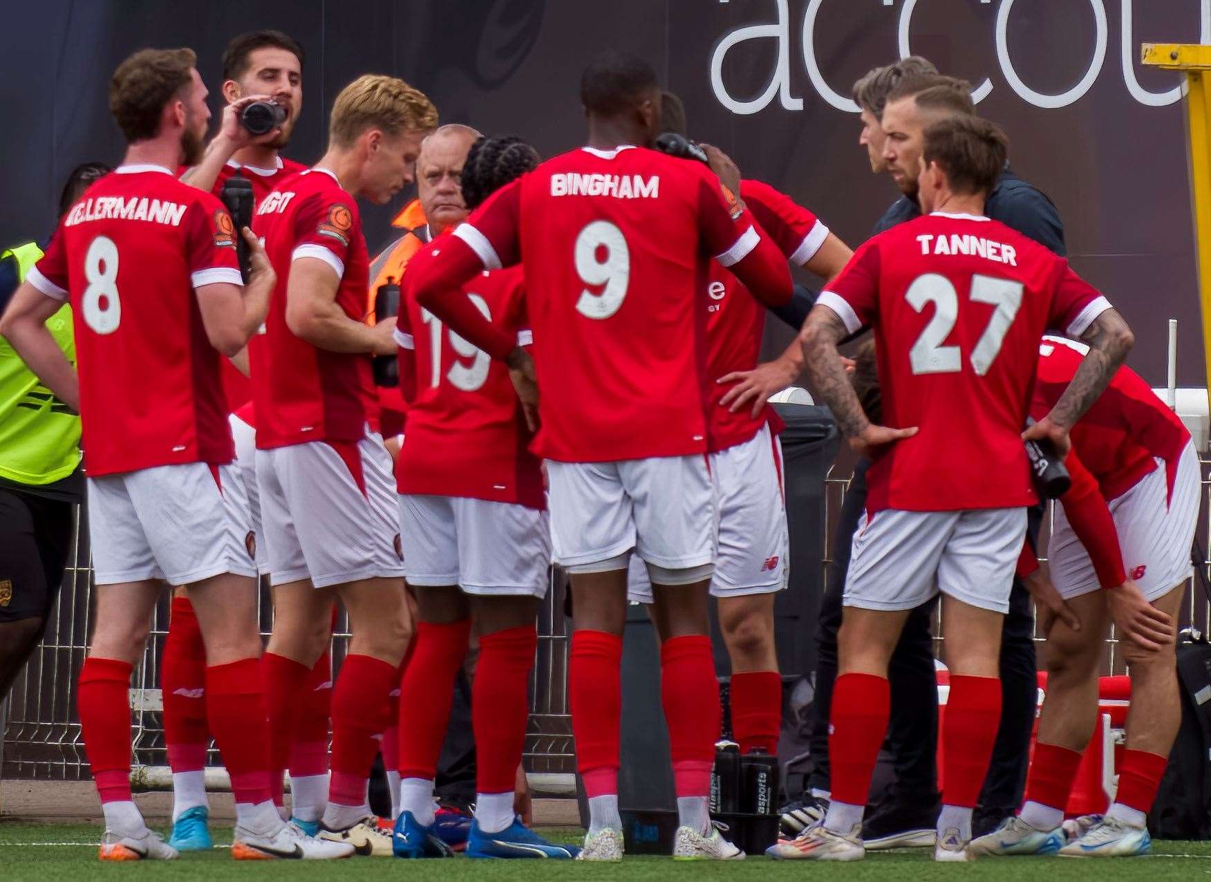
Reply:
[[[813, 769], [808, 788], [830, 790], [828, 712], [837, 678], [837, 631], [842, 619], [842, 591], [849, 569], [850, 539], [866, 506], [866, 470], [862, 460], [842, 505], [837, 525], [837, 546], [828, 568], [828, 590], [820, 606], [816, 628], [816, 699], [811, 722]], [[1038, 534], [1041, 511], [1032, 510], [1029, 531]], [[935, 801], [937, 797], [937, 685], [934, 674], [934, 641], [930, 617], [935, 601], [908, 614], [903, 632], [888, 666], [891, 682], [891, 718], [888, 748], [896, 783], [891, 798]], [[1011, 813], [1022, 800], [1029, 758], [1031, 728], [1037, 698], [1034, 620], [1031, 600], [1018, 579], [1009, 601], [1009, 614], [1000, 648], [1001, 716], [992, 763], [985, 779], [980, 804], [986, 811]]]

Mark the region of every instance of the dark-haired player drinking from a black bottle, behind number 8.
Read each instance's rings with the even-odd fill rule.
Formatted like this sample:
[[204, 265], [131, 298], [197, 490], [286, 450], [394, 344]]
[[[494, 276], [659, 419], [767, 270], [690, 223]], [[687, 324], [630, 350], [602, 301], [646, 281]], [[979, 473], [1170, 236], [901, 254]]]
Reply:
[[[283, 179], [305, 166], [285, 159], [280, 150], [303, 110], [303, 48], [279, 30], [239, 34], [223, 52], [223, 110], [219, 132], [201, 161], [182, 174], [182, 181], [219, 196], [223, 184], [236, 172], [252, 184], [259, 202]], [[281, 128], [253, 137], [240, 124], [240, 111], [253, 101], [272, 99], [286, 108]], [[236, 365], [240, 367], [237, 368]], [[254, 534], [257, 569], [268, 572], [265, 543], [260, 531], [260, 503], [253, 463], [256, 451], [252, 416], [252, 384], [246, 376], [248, 354], [223, 359], [220, 373], [231, 411], [229, 422], [235, 441], [235, 468], [248, 498], [248, 516]], [[163, 692], [163, 732], [172, 769], [172, 836], [178, 850], [210, 850], [207, 827], [206, 751], [211, 740], [206, 723], [206, 647], [197, 617], [184, 589], [174, 589], [168, 636], [163, 642], [160, 686]], [[316, 663], [315, 686], [308, 693], [297, 746], [291, 752], [291, 794], [294, 818], [314, 825], [328, 796], [328, 710], [332, 699], [332, 664], [325, 654]], [[327, 685], [327, 686], [325, 686]], [[270, 698], [270, 700], [272, 700]], [[316, 734], [321, 733], [321, 734]], [[321, 749], [314, 744], [322, 741]], [[275, 800], [281, 798], [275, 788]]]

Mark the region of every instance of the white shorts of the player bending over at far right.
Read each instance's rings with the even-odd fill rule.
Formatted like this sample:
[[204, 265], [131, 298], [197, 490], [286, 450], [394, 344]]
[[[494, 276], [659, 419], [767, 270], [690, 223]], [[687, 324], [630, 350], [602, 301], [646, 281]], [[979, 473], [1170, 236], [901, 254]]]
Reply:
[[[1201, 489], [1199, 458], [1189, 442], [1177, 460], [1172, 497], [1165, 460], [1140, 483], [1107, 505], [1119, 533], [1123, 565], [1149, 601], [1160, 600], [1194, 575], [1190, 546], [1199, 520]], [[1068, 523], [1063, 506], [1055, 506], [1051, 542], [1048, 544], [1051, 584], [1067, 600], [1101, 588], [1094, 562]]]

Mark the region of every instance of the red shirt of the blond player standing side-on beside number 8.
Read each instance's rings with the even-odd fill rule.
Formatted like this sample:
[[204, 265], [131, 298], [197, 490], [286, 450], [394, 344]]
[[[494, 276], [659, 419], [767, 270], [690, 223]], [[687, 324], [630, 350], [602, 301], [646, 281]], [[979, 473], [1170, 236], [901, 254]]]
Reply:
[[332, 268], [340, 280], [337, 304], [362, 321], [369, 257], [356, 201], [332, 172], [311, 168], [260, 201], [253, 230], [277, 271], [265, 332], [248, 346], [257, 447], [363, 437], [374, 407], [371, 356], [318, 349], [286, 326], [291, 264], [304, 257]]

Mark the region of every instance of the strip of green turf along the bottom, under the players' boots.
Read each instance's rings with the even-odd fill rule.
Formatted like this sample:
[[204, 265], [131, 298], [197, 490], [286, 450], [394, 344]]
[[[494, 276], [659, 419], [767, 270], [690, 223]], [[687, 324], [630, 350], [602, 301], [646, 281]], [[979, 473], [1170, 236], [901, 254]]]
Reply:
[[[546, 829], [552, 840], [575, 842], [580, 831]], [[929, 860], [929, 852], [895, 852], [872, 854], [857, 864], [807, 864], [771, 861], [750, 858], [741, 864], [678, 864], [667, 858], [627, 858], [621, 865], [575, 864], [562, 861], [541, 864], [529, 860], [467, 860], [454, 858], [443, 861], [403, 861], [385, 858], [352, 858], [344, 861], [256, 861], [237, 864], [226, 849], [216, 848], [210, 854], [186, 854], [174, 861], [140, 861], [131, 864], [101, 864], [97, 860], [99, 830], [80, 824], [0, 823], [0, 880], [8, 882], [69, 882], [78, 878], [165, 878], [222, 880], [243, 877], [260, 882], [299, 878], [388, 880], [440, 878], [442, 882], [460, 880], [524, 880], [544, 882], [572, 877], [638, 878], [638, 880], [701, 880], [702, 877], [752, 880], [802, 880], [804, 876], [825, 876], [866, 882], [899, 882], [899, 880], [936, 878], [951, 876], [968, 880], [1021, 880], [1022, 882], [1064, 882], [1066, 880], [1182, 878], [1195, 880], [1211, 872], [1211, 842], [1157, 842], [1148, 858], [1125, 860], [1064, 860], [1058, 858], [985, 859], [975, 864], [937, 865]], [[230, 842], [230, 829], [216, 829], [220, 843]], [[52, 843], [52, 844], [44, 844]], [[53, 844], [87, 843], [87, 844]]]

